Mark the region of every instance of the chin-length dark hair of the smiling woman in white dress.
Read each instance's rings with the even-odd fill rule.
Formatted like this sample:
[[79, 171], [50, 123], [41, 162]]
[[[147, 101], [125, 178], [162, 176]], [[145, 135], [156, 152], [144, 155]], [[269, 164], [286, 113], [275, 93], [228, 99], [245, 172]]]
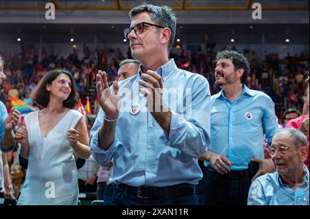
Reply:
[[71, 93], [67, 100], [63, 102], [63, 106], [68, 108], [74, 108], [77, 102], [76, 97], [76, 87], [74, 83], [74, 79], [69, 73], [69, 71], [65, 69], [54, 69], [49, 71], [45, 74], [45, 76], [40, 80], [38, 87], [35, 89], [34, 93], [32, 94], [32, 100], [46, 108], [48, 106], [48, 102], [50, 102], [50, 92], [46, 90], [46, 85], [52, 84], [52, 82], [61, 74], [64, 73], [65, 75], [69, 76], [71, 80]]

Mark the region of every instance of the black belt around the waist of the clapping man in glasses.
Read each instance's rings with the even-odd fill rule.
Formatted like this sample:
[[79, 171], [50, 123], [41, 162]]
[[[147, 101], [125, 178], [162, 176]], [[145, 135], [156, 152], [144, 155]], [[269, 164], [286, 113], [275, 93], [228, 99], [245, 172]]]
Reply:
[[131, 185], [119, 184], [116, 185], [116, 189], [124, 189], [127, 191], [127, 194], [131, 194], [137, 198], [176, 198], [191, 196], [196, 193], [196, 185], [187, 183], [167, 187], [134, 187]]

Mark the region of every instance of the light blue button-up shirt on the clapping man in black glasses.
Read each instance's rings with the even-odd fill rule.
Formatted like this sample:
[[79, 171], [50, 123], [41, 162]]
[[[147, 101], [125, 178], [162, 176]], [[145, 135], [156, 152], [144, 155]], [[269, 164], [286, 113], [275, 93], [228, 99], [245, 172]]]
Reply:
[[[107, 150], [99, 148], [102, 109], [90, 132], [94, 159], [101, 165], [114, 159], [112, 183], [165, 187], [198, 184], [203, 177], [198, 157], [210, 142], [209, 83], [196, 73], [178, 69], [174, 60], [158, 68], [157, 73], [163, 79], [163, 87], [169, 91], [163, 91], [163, 102], [172, 111], [169, 136], [147, 111], [145, 97], [138, 92], [143, 88], [138, 84], [142, 79], [141, 69], [136, 76], [118, 82], [122, 107], [112, 146]], [[140, 112], [130, 113], [132, 105], [138, 105]]]

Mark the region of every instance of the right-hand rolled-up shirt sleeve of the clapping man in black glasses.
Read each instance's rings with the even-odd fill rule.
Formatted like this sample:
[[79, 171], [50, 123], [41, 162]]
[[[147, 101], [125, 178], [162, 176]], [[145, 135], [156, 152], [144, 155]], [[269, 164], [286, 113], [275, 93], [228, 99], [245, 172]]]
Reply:
[[172, 112], [167, 144], [192, 157], [200, 157], [210, 143], [210, 91], [205, 78], [198, 77], [192, 86], [192, 102], [185, 115]]

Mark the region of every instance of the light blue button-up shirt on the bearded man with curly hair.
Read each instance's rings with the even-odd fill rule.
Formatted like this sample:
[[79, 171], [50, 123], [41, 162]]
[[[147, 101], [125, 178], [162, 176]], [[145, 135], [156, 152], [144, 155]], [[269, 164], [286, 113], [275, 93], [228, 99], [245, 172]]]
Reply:
[[251, 158], [264, 159], [264, 134], [271, 145], [278, 128], [274, 104], [265, 93], [243, 85], [242, 94], [234, 102], [225, 97], [223, 90], [211, 96], [209, 151], [233, 162], [230, 170], [247, 169]]

